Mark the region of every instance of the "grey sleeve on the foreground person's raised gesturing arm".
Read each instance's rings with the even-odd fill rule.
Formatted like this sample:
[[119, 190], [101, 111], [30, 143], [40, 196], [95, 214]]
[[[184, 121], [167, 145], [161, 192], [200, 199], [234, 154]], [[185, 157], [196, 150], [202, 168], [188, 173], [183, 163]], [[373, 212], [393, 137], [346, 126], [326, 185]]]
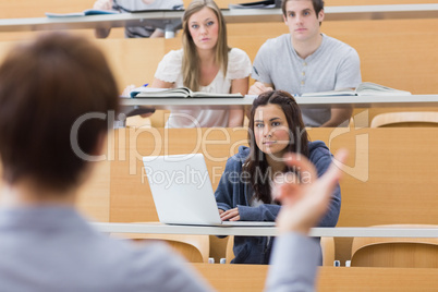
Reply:
[[265, 291], [315, 291], [320, 247], [314, 240], [288, 233], [273, 242]]

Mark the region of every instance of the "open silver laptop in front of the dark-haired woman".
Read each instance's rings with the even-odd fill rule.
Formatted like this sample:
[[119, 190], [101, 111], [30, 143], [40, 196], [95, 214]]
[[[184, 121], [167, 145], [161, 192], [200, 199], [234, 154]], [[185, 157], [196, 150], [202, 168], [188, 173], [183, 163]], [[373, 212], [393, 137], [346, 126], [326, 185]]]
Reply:
[[160, 222], [267, 227], [275, 222], [221, 221], [202, 154], [147, 156], [144, 168]]

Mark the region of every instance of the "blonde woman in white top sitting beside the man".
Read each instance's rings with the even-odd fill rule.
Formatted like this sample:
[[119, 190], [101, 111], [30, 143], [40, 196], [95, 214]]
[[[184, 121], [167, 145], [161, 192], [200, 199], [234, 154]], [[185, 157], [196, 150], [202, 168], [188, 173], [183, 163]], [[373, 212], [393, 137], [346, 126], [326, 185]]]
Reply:
[[[183, 48], [167, 53], [151, 87], [186, 86], [193, 92], [247, 94], [251, 60], [246, 52], [229, 48], [227, 26], [212, 0], [194, 0], [183, 16]], [[240, 126], [243, 110], [171, 109], [167, 127]]]

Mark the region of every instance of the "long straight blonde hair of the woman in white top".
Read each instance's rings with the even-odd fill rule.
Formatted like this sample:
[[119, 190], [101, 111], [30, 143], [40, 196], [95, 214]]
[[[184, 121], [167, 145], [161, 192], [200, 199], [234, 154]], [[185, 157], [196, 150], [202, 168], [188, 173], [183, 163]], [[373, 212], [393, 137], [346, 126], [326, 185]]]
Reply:
[[223, 76], [227, 74], [228, 68], [228, 52], [230, 48], [227, 41], [227, 25], [223, 20], [223, 15], [218, 5], [212, 0], [193, 0], [184, 12], [183, 16], [183, 60], [182, 60], [182, 73], [184, 86], [191, 88], [194, 92], [199, 90], [199, 61], [195, 42], [188, 31], [188, 19], [203, 8], [209, 8], [215, 12], [219, 22], [219, 36], [216, 44], [216, 62], [222, 69]]

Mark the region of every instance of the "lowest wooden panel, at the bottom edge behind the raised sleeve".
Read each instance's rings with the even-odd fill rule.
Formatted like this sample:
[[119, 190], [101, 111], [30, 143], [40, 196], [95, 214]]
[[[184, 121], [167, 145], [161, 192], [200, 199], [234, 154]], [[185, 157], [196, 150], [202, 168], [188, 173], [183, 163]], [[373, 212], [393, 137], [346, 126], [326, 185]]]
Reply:
[[[268, 266], [194, 264], [221, 292], [263, 291]], [[436, 291], [438, 269], [319, 267], [316, 291]]]

